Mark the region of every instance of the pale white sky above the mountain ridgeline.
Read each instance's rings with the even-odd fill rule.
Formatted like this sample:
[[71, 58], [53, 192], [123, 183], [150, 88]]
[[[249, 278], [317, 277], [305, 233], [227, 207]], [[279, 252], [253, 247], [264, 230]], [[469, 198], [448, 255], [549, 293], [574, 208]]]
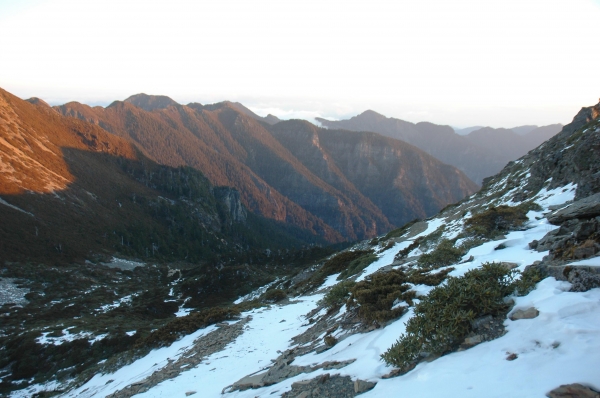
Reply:
[[144, 92], [285, 119], [568, 123], [600, 97], [598, 21], [600, 0], [0, 0], [0, 87], [52, 105]]

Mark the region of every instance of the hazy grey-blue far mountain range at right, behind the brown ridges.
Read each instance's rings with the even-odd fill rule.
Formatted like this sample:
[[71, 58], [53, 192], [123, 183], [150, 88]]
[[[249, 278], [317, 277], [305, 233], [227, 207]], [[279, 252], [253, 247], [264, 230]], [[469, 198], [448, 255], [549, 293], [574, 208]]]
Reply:
[[475, 126], [455, 131], [450, 126], [428, 122], [410, 123], [388, 118], [371, 110], [348, 120], [317, 120], [326, 128], [374, 131], [406, 141], [442, 162], [457, 167], [477, 184], [481, 184], [485, 177], [498, 173], [506, 163], [525, 155], [562, 129], [561, 124], [552, 124], [544, 127], [520, 126], [513, 129]]

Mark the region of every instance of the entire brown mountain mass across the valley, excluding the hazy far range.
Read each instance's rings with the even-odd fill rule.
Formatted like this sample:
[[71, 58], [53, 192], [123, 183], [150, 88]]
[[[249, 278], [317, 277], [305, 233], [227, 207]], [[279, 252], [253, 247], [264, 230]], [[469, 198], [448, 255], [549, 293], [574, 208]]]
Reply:
[[365, 239], [477, 188], [405, 142], [277, 122], [232, 102], [0, 98], [0, 251], [21, 259], [46, 250], [190, 260]]

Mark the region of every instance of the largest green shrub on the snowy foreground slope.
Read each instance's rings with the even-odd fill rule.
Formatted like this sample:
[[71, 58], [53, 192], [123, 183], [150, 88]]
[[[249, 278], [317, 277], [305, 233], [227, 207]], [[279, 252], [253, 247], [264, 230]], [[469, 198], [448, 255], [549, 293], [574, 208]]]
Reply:
[[448, 278], [417, 304], [406, 334], [382, 355], [383, 360], [405, 368], [424, 353], [452, 350], [471, 331], [474, 319], [506, 310], [503, 298], [514, 291], [515, 274], [501, 264], [486, 263], [463, 277]]

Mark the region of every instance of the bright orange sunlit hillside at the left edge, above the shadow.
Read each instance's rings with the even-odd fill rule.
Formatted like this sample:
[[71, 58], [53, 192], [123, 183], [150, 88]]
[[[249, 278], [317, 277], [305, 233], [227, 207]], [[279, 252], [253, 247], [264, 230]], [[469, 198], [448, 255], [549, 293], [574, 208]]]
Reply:
[[[74, 181], [62, 148], [133, 159], [126, 141], [0, 89], [0, 194], [51, 193]], [[43, 131], [43, 134], [39, 132]]]

